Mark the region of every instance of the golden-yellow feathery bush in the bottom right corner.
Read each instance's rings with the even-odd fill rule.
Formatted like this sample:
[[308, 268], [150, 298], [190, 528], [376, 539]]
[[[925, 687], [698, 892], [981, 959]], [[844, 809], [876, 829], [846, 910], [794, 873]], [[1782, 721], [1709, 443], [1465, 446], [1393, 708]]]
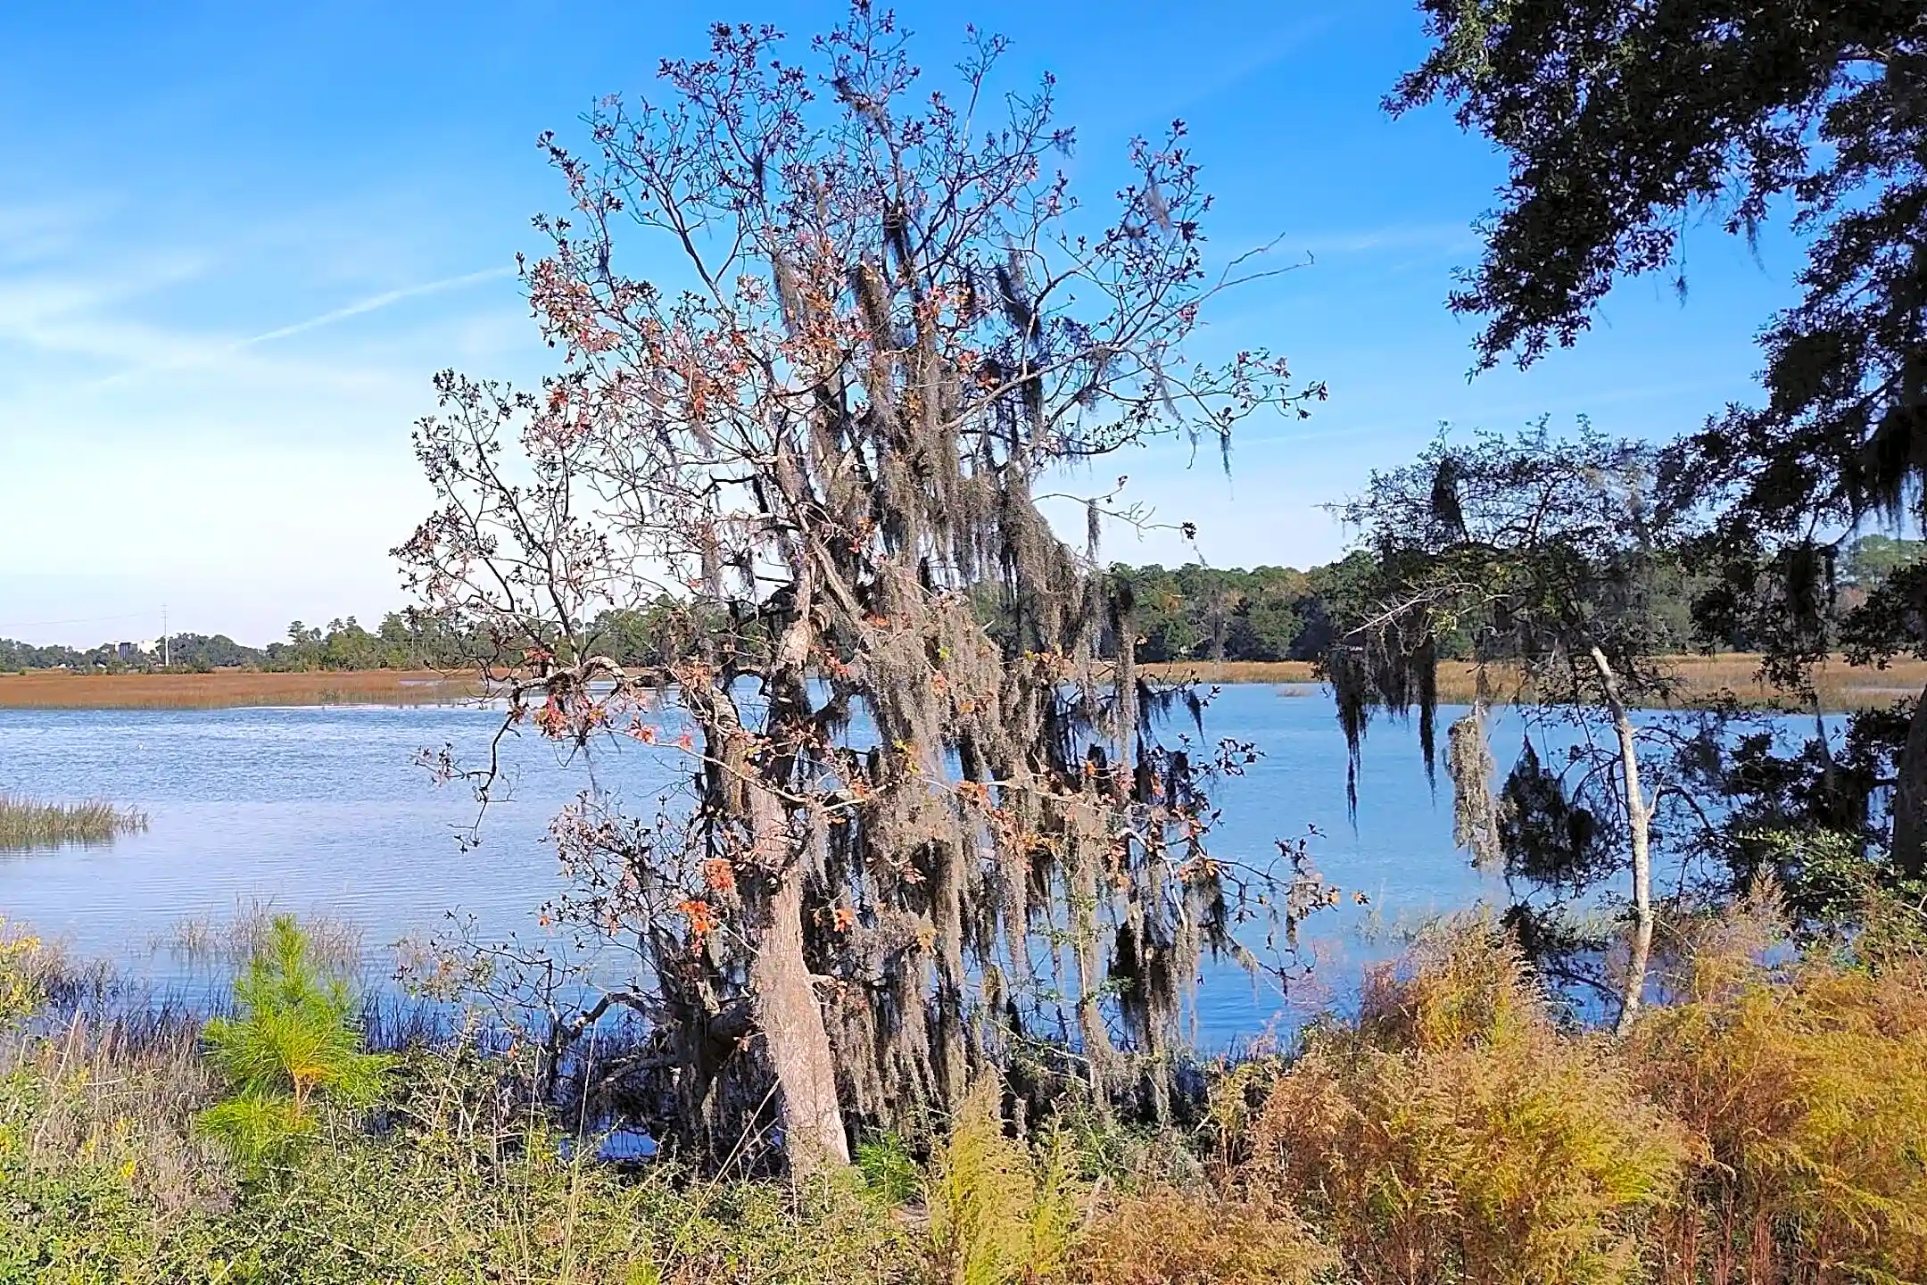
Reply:
[[1927, 963], [1755, 944], [1702, 950], [1624, 1050], [1705, 1148], [1667, 1279], [1927, 1279]]

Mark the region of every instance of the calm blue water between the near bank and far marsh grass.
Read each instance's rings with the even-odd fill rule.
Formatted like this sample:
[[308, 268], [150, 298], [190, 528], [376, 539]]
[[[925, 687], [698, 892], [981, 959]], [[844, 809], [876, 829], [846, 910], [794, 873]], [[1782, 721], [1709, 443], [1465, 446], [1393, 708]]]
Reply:
[[[680, 765], [642, 746], [584, 761], [534, 736], [511, 738], [511, 800], [491, 805], [482, 846], [464, 852], [457, 832], [474, 815], [470, 796], [436, 786], [414, 757], [441, 746], [480, 755], [497, 726], [495, 711], [474, 707], [0, 709], [0, 792], [106, 798], [152, 821], [110, 848], [0, 855], [0, 913], [160, 977], [177, 965], [156, 942], [183, 919], [220, 921], [245, 902], [358, 925], [376, 975], [391, 942], [443, 929], [451, 913], [472, 915], [488, 936], [541, 936], [538, 909], [563, 890], [543, 844], [555, 809], [592, 782], [647, 809]], [[1316, 863], [1347, 894], [1307, 931], [1324, 981], [1295, 992], [1293, 1008], [1343, 996], [1366, 957], [1391, 950], [1386, 921], [1503, 900], [1503, 884], [1453, 850], [1449, 794], [1432, 798], [1409, 732], [1374, 730], [1357, 828], [1345, 815], [1345, 742], [1316, 688], [1229, 686], [1206, 732], [1264, 751], [1224, 784], [1214, 852], [1264, 859], [1274, 840], [1314, 826]], [[1493, 742], [1503, 746], [1503, 734]], [[1370, 907], [1353, 905], [1353, 892]], [[1254, 994], [1241, 975], [1214, 973], [1199, 1004], [1201, 1036], [1224, 1044], [1253, 1035], [1280, 1008], [1280, 996]]]

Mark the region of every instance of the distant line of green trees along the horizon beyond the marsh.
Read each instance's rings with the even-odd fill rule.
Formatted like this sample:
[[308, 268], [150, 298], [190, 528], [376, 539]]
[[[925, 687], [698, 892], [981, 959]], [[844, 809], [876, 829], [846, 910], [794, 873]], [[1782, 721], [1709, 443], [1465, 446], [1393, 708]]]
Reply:
[[[1863, 536], [1850, 543], [1836, 568], [1835, 615], [1844, 615], [1898, 566], [1919, 561], [1927, 543]], [[1295, 566], [1216, 568], [1185, 566], [1110, 568], [1118, 586], [1127, 586], [1133, 601], [1141, 661], [1312, 661], [1332, 643], [1335, 618], [1357, 618], [1364, 586], [1372, 584], [1372, 557], [1353, 553], [1337, 563], [1297, 570]], [[1651, 626], [1663, 647], [1696, 651], [1705, 645], [1696, 632], [1692, 601], [1705, 590], [1694, 574], [1671, 568], [1646, 586]], [[674, 601], [634, 611], [609, 611], [592, 626], [595, 645], [624, 665], [657, 663], [663, 640], [678, 630], [700, 628]], [[744, 630], [738, 622], [736, 632]], [[493, 657], [472, 630], [416, 611], [391, 611], [370, 632], [347, 616], [328, 628], [295, 620], [287, 640], [266, 647], [237, 643], [225, 634], [175, 634], [160, 642], [100, 643], [92, 649], [35, 647], [0, 638], [0, 670], [83, 669], [158, 670], [164, 655], [173, 669], [462, 669]], [[1439, 653], [1453, 659], [1463, 640], [1445, 636]], [[1754, 651], [1744, 636], [1715, 640], [1734, 651]]]

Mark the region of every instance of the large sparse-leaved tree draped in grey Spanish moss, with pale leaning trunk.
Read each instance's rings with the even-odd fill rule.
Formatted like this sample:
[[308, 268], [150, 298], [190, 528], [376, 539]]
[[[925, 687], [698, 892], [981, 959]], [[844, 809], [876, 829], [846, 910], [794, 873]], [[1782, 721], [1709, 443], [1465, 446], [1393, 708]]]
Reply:
[[[1137, 678], [1127, 595], [1039, 482], [1322, 389], [1187, 356], [1201, 306], [1264, 274], [1206, 272], [1183, 125], [1091, 216], [1052, 170], [1050, 81], [990, 91], [1002, 48], [971, 33], [923, 92], [863, 2], [804, 62], [719, 25], [663, 64], [665, 102], [597, 108], [592, 154], [545, 139], [572, 208], [524, 281], [563, 372], [443, 376], [416, 437], [441, 507], [397, 555], [501, 645], [505, 728], [688, 755], [684, 805], [588, 798], [555, 832], [636, 948], [619, 1002], [663, 1033], [682, 1127], [773, 1102], [796, 1171], [848, 1158], [850, 1114], [958, 1100], [1052, 994], [1100, 1098], [1131, 1088], [1108, 994], [1162, 1092], [1201, 957], [1253, 959], [1231, 932], [1258, 886], [1266, 915], [1316, 900], [1297, 850], [1206, 853], [1204, 786], [1251, 751], [1154, 734], [1197, 697]], [[622, 227], [669, 252], [655, 281]], [[1091, 501], [1093, 536], [1114, 512]], [[597, 618], [665, 601], [665, 663], [601, 651]]]

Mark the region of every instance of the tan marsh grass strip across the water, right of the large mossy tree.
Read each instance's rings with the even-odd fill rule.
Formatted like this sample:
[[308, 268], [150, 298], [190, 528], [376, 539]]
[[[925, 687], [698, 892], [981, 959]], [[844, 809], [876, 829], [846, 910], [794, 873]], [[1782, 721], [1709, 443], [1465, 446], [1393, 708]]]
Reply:
[[[1667, 669], [1678, 678], [1678, 699], [1684, 705], [1703, 705], [1732, 694], [1742, 705], [1798, 705], [1781, 688], [1759, 682], [1759, 657], [1730, 651], [1725, 655], [1667, 657]], [[1310, 661], [1174, 661], [1141, 665], [1147, 676], [1160, 682], [1316, 682]], [[1497, 682], [1505, 690], [1503, 676]], [[1890, 705], [1908, 695], [1919, 695], [1927, 686], [1927, 661], [1894, 661], [1887, 669], [1848, 665], [1833, 657], [1813, 672], [1813, 688], [1823, 709], [1871, 709]], [[1447, 705], [1472, 701], [1472, 667], [1463, 661], [1439, 665], [1439, 699]]]

